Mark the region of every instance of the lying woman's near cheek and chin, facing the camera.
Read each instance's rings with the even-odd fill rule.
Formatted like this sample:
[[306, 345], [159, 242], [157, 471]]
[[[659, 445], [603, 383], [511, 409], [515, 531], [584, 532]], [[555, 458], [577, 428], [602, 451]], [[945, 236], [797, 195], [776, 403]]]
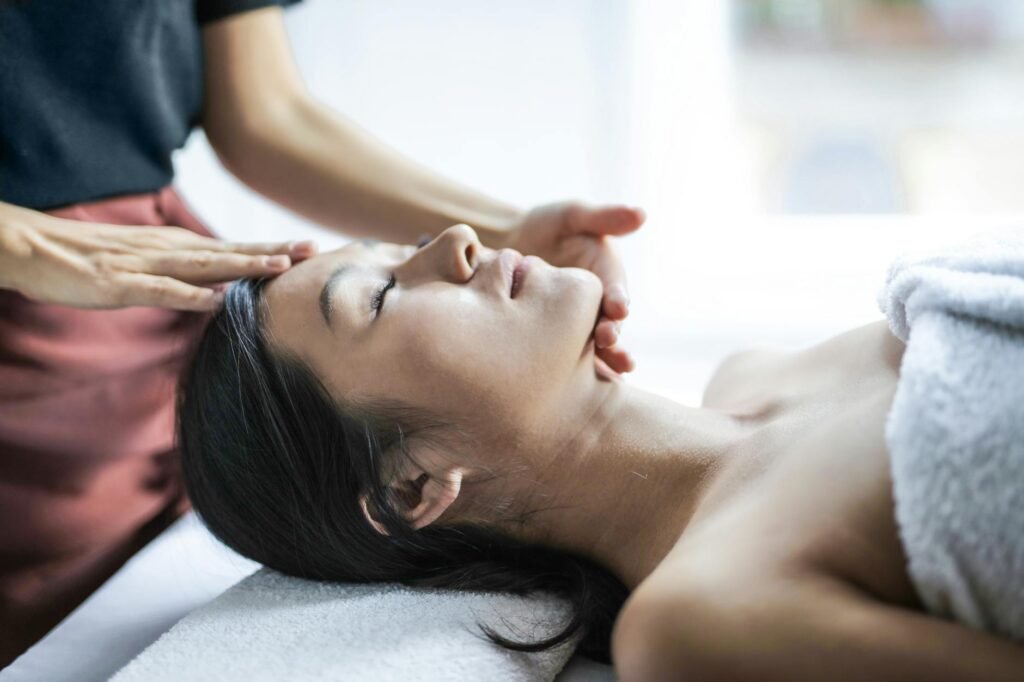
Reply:
[[601, 284], [562, 271], [528, 303], [496, 304], [471, 292], [408, 298], [381, 335], [375, 394], [459, 421], [515, 423], [570, 372], [593, 330]]

